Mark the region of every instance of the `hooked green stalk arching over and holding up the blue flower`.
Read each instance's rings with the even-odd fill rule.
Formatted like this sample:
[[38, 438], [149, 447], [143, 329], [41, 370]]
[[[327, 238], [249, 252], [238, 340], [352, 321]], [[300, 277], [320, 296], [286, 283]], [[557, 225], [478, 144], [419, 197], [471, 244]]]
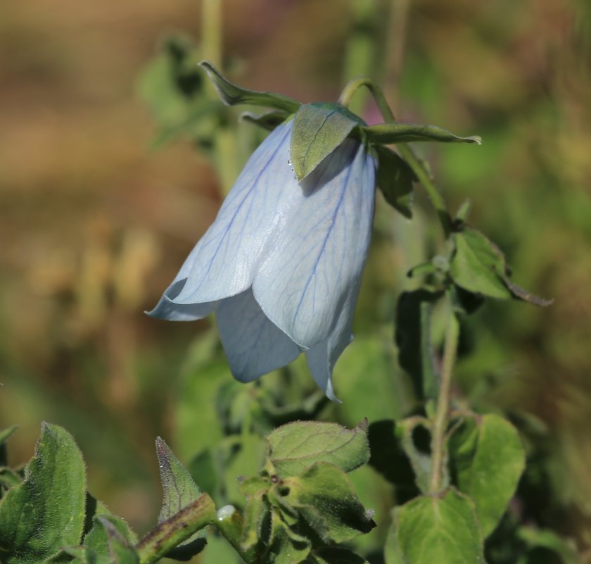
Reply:
[[[338, 100], [339, 104], [345, 106], [346, 108], [348, 104], [350, 104], [353, 94], [355, 94], [355, 92], [361, 87], [366, 87], [369, 89], [371, 95], [374, 96], [374, 100], [376, 101], [376, 105], [378, 106], [384, 121], [386, 123], [395, 123], [396, 119], [394, 113], [390, 109], [390, 106], [388, 106], [388, 102], [386, 101], [386, 97], [383, 95], [381, 88], [377, 86], [369, 77], [358, 77], [351, 80], [347, 86], [345, 86], [345, 89], [343, 89], [341, 98]], [[400, 156], [402, 156], [409, 167], [412, 168], [414, 174], [417, 176], [417, 179], [419, 182], [421, 182], [424, 189], [426, 190], [433, 207], [437, 211], [445, 238], [449, 237], [452, 232], [452, 218], [449, 211], [447, 211], [447, 206], [445, 205], [443, 196], [440, 194], [433, 183], [431, 175], [428, 173], [428, 170], [425, 168], [421, 160], [414, 154], [414, 151], [409, 145], [405, 143], [399, 143], [396, 146], [398, 147], [398, 151], [400, 151]]]

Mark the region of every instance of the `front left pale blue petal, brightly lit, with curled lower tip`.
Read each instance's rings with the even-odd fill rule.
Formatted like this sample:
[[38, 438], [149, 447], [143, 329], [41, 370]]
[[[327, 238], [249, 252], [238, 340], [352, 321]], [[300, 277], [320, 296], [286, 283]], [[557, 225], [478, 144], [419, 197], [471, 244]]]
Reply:
[[298, 186], [289, 164], [292, 124], [279, 125], [250, 157], [175, 278], [186, 283], [174, 303], [216, 301], [252, 284], [269, 235]]

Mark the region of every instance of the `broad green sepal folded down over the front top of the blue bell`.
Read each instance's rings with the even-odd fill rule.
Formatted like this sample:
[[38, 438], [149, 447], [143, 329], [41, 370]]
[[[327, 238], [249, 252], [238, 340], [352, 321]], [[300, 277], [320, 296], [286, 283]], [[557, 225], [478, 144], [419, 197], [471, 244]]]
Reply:
[[303, 104], [293, 118], [291, 161], [298, 180], [329, 156], [360, 120], [340, 104]]

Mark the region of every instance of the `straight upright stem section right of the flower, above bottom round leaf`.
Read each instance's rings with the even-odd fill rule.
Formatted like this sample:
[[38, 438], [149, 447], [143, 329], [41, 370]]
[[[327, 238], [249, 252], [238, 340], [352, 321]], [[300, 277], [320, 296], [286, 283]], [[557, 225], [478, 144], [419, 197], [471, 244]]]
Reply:
[[443, 464], [445, 463], [445, 432], [450, 414], [450, 392], [452, 388], [452, 374], [457, 353], [459, 339], [459, 322], [450, 303], [450, 318], [445, 332], [445, 346], [443, 348], [443, 363], [441, 368], [441, 382], [437, 409], [431, 427], [431, 476], [429, 492], [437, 494], [441, 489]]

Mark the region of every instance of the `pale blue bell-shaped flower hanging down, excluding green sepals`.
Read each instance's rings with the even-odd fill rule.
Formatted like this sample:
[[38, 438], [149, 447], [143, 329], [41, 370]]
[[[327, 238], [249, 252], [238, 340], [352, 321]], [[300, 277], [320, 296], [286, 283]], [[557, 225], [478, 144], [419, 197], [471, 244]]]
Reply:
[[351, 322], [374, 216], [375, 163], [345, 139], [304, 180], [290, 163], [293, 120], [250, 157], [215, 222], [189, 254], [155, 318], [217, 314], [237, 380], [250, 382], [305, 353], [336, 399], [333, 366]]

